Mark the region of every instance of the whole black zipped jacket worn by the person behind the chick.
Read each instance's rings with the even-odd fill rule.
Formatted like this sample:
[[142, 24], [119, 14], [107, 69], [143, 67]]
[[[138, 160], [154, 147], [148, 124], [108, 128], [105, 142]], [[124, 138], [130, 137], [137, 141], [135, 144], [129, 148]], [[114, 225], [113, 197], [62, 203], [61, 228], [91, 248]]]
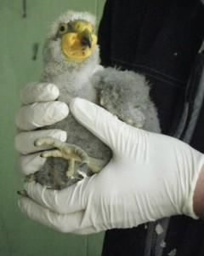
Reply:
[[[107, 0], [99, 26], [102, 64], [143, 73], [162, 133], [204, 153], [204, 104], [198, 97], [203, 93], [204, 54], [198, 54], [203, 39], [204, 6], [199, 0]], [[144, 255], [145, 247], [152, 246], [146, 233], [145, 225], [107, 231], [103, 256]], [[204, 222], [171, 218], [165, 242], [162, 255], [174, 249], [176, 255], [204, 255]], [[154, 249], [149, 255], [158, 256]]]

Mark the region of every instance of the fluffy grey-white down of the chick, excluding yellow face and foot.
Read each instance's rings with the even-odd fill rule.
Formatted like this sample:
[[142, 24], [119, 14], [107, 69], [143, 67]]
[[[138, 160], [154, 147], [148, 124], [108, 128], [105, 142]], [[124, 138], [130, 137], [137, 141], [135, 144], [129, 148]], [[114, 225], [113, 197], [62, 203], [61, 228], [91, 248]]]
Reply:
[[[59, 24], [72, 20], [87, 20], [93, 26], [95, 18], [88, 13], [73, 11], [61, 15], [51, 28], [44, 46], [44, 73], [42, 81], [56, 84], [59, 87], [59, 101], [69, 105], [73, 97], [79, 96], [88, 101], [102, 105], [119, 119], [148, 131], [160, 132], [156, 108], [150, 101], [150, 86], [144, 76], [130, 71], [119, 71], [115, 68], [99, 66], [99, 46], [96, 45], [92, 54], [83, 61], [68, 60], [61, 49], [61, 38], [56, 34]], [[76, 144], [96, 162], [111, 159], [111, 149], [101, 143], [76, 119], [69, 116], [50, 125], [48, 129], [67, 131], [67, 143]], [[82, 179], [84, 173], [92, 175], [87, 165], [76, 164], [72, 177], [66, 176], [67, 160], [50, 157], [39, 172], [35, 174], [38, 183], [52, 188], [63, 189]], [[77, 172], [79, 170], [81, 172]]]

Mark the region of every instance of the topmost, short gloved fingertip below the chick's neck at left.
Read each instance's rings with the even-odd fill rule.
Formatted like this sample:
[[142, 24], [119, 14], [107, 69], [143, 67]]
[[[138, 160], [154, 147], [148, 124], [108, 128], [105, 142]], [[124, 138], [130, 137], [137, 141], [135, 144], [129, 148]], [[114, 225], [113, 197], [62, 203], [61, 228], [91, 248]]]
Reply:
[[20, 90], [20, 101], [27, 105], [34, 102], [50, 102], [59, 97], [55, 84], [33, 82]]

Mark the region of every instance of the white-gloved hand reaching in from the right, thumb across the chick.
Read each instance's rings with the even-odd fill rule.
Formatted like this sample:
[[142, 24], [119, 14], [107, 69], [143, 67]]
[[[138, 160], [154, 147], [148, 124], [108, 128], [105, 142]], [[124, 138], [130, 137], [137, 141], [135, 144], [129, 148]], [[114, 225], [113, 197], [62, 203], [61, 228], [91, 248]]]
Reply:
[[93, 177], [60, 191], [26, 183], [20, 209], [62, 232], [88, 234], [131, 228], [176, 214], [197, 218], [195, 183], [203, 154], [185, 143], [126, 125], [91, 102], [74, 99], [71, 112], [113, 152]]

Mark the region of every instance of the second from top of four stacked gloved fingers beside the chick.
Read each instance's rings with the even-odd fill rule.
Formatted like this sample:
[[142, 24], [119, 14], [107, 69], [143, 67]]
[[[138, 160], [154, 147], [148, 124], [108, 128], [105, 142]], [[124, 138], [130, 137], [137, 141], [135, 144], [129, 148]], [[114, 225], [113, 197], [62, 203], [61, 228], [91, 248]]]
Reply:
[[15, 124], [24, 131], [31, 131], [38, 127], [53, 125], [69, 113], [64, 102], [38, 102], [23, 106], [15, 115]]

